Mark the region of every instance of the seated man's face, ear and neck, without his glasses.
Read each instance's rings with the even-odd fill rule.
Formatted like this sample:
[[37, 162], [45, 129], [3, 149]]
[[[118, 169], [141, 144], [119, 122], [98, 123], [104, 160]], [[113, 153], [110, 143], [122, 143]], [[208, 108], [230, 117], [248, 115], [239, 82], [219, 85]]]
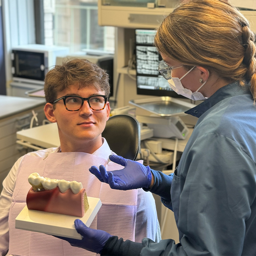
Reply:
[[[104, 91], [99, 91], [93, 85], [78, 88], [78, 85], [72, 85], [69, 89], [58, 92], [56, 99], [66, 95], [77, 95], [83, 98], [92, 95], [105, 95]], [[54, 105], [55, 109], [53, 110], [53, 105], [47, 103], [44, 110], [46, 117], [51, 122], [58, 124], [62, 151], [84, 152], [83, 148], [91, 148], [92, 152], [86, 153], [93, 153], [102, 145], [101, 133], [110, 113], [108, 101], [105, 108], [99, 111], [92, 110], [86, 100], [78, 111], [68, 111], [63, 100], [57, 101]]]

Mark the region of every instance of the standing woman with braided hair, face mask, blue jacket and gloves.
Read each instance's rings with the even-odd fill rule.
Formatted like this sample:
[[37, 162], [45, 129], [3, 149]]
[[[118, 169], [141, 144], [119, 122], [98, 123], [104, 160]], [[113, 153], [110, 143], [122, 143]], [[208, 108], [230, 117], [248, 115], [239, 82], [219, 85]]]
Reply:
[[[204, 100], [175, 172], [110, 156], [123, 170], [90, 171], [114, 189], [143, 188], [174, 212], [180, 243], [134, 243], [75, 221], [74, 246], [101, 255], [256, 255], [256, 60], [248, 21], [224, 0], [180, 4], [157, 30], [160, 73], [178, 94]], [[108, 221], [108, 220], [106, 220]], [[111, 223], [115, 225], [115, 223]]]

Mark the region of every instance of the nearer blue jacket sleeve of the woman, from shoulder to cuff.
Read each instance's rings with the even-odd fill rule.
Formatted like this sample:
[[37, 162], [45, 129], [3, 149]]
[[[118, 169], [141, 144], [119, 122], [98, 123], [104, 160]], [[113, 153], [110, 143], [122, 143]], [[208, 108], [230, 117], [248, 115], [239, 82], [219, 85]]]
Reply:
[[[180, 243], [144, 238], [140, 255], [241, 255], [256, 197], [253, 159], [236, 141], [197, 138], [180, 169]], [[180, 167], [180, 166], [179, 166]]]

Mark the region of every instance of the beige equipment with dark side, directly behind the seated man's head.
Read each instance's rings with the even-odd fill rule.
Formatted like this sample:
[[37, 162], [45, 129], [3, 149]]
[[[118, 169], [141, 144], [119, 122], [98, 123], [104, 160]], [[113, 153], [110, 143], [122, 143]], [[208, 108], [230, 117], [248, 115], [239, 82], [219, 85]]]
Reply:
[[104, 69], [109, 76], [110, 94], [113, 95], [113, 55], [111, 54], [97, 54], [97, 52], [83, 52], [72, 55], [57, 56], [56, 65], [62, 65], [63, 61], [68, 59], [86, 59], [94, 64], [97, 64], [100, 68]]

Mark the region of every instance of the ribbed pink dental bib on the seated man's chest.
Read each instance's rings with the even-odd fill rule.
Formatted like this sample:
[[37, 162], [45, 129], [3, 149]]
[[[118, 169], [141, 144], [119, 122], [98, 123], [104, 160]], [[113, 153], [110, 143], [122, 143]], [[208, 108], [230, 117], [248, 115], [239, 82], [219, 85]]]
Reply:
[[11, 255], [95, 255], [84, 249], [50, 235], [15, 229], [15, 218], [26, 205], [26, 196], [31, 188], [28, 176], [38, 172], [40, 176], [59, 180], [82, 182], [87, 196], [100, 198], [102, 206], [90, 228], [105, 230], [124, 240], [134, 241], [138, 190], [114, 190], [101, 183], [89, 172], [92, 165], [106, 166], [107, 171], [124, 167], [91, 154], [82, 152], [52, 153], [44, 160], [38, 156], [24, 156], [16, 173], [17, 180], [12, 196], [9, 215]]

